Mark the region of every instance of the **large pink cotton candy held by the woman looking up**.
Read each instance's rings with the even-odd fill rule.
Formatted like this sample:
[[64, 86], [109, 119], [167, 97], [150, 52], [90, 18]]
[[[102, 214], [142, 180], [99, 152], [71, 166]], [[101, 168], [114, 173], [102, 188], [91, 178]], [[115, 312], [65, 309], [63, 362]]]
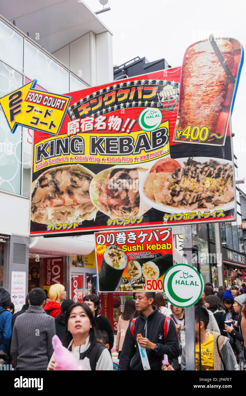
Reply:
[[57, 335], [52, 338], [54, 348], [54, 361], [56, 362], [56, 370], [81, 370], [81, 363], [75, 359], [73, 352], [69, 352], [67, 348], [62, 346]]

